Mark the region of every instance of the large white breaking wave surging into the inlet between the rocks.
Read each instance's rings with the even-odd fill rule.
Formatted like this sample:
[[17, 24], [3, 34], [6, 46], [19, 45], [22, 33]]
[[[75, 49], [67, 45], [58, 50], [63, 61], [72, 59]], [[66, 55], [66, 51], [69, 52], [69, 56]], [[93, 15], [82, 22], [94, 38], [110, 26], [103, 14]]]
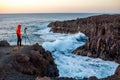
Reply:
[[83, 45], [84, 44], [83, 41], [86, 40], [87, 37], [82, 33], [64, 37], [59, 36], [59, 38], [57, 38], [54, 42], [45, 42], [43, 44], [43, 47], [51, 52], [54, 51], [71, 52], [78, 46]]

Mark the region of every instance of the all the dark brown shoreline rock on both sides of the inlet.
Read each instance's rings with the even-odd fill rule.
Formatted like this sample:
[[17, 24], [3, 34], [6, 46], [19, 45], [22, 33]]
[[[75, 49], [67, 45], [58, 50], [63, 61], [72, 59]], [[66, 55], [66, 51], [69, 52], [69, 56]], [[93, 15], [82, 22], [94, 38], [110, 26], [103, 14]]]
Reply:
[[[74, 54], [102, 58], [120, 63], [120, 15], [100, 15], [88, 18], [52, 22], [51, 31], [59, 33], [83, 32], [89, 39]], [[0, 80], [75, 80], [59, 78], [59, 71], [49, 51], [39, 44], [17, 48], [7, 41], [0, 41]], [[120, 65], [114, 75], [98, 79], [120, 80]]]

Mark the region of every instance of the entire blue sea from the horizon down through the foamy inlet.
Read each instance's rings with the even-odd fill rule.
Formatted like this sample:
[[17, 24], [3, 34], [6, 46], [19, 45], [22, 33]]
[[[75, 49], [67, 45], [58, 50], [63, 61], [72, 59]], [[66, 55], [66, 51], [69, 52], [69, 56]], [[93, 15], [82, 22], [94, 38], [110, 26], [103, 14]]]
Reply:
[[[45, 50], [52, 53], [59, 77], [84, 77], [96, 76], [104, 78], [114, 74], [117, 63], [93, 59], [72, 54], [72, 51], [82, 46], [87, 41], [83, 33], [60, 34], [50, 31], [47, 25], [54, 21], [65, 21], [77, 18], [99, 15], [97, 13], [34, 13], [34, 14], [0, 14], [0, 40], [7, 40], [11, 45], [16, 45], [16, 27], [22, 25], [22, 45], [39, 43]], [[24, 29], [27, 27], [26, 34]], [[30, 41], [29, 41], [29, 40]], [[25, 42], [26, 40], [26, 42]]]

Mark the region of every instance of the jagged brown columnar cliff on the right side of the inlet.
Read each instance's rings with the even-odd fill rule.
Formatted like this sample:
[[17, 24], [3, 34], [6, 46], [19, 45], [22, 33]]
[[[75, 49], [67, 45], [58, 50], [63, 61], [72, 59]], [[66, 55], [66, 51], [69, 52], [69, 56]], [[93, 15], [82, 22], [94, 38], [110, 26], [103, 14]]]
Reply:
[[[76, 20], [56, 21], [48, 26], [55, 33], [82, 32], [89, 37], [84, 46], [73, 51], [74, 54], [120, 63], [120, 15], [105, 14]], [[120, 66], [114, 75], [100, 80], [119, 80], [119, 68]]]

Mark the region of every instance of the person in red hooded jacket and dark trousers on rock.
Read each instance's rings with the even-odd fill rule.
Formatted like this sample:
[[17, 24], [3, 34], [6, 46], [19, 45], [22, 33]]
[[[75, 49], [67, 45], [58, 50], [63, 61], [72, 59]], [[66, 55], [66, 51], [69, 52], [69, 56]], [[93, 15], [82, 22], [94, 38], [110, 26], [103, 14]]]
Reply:
[[21, 47], [21, 42], [22, 42], [21, 24], [18, 24], [16, 28], [16, 35], [17, 35], [17, 46]]

